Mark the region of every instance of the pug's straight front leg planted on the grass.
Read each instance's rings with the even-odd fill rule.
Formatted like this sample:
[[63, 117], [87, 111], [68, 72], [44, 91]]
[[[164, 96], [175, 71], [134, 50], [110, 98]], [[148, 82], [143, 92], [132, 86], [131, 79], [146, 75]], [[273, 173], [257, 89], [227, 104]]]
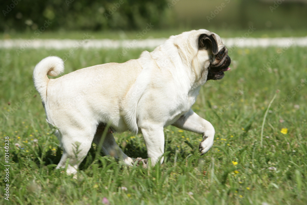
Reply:
[[[142, 124], [141, 131], [146, 143], [147, 155], [151, 159], [151, 166], [154, 166], [160, 159], [160, 164], [163, 162], [164, 153], [164, 132], [163, 126], [156, 124]], [[138, 160], [138, 159], [136, 159]], [[142, 160], [143, 166], [147, 167], [147, 160]]]

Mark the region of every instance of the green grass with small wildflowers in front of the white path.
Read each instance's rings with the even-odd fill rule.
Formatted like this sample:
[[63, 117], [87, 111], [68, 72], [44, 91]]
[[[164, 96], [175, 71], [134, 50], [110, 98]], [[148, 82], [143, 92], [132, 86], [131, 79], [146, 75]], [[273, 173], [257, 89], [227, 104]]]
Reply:
[[[119, 59], [121, 49], [78, 49], [65, 61], [65, 73], [124, 62], [141, 51], [130, 50]], [[206, 155], [198, 152], [200, 135], [169, 126], [164, 130], [161, 166], [126, 167], [110, 156], [96, 155], [93, 145], [77, 179], [54, 169], [61, 149], [32, 81], [33, 68], [41, 59], [64, 57], [67, 52], [28, 49], [17, 56], [14, 49], [0, 50], [1, 204], [102, 204], [103, 197], [111, 204], [306, 203], [307, 86], [300, 84], [307, 73], [307, 48], [291, 47], [282, 56], [278, 48], [235, 49], [231, 71], [223, 80], [208, 81], [193, 105], [216, 130], [214, 146]], [[261, 74], [263, 64], [275, 55], [278, 59]], [[277, 89], [261, 148], [263, 117]], [[282, 128], [288, 132], [281, 133]], [[10, 137], [9, 202], [2, 192], [5, 136]], [[141, 135], [125, 132], [115, 139], [126, 144], [122, 148], [129, 156], [146, 157]]]

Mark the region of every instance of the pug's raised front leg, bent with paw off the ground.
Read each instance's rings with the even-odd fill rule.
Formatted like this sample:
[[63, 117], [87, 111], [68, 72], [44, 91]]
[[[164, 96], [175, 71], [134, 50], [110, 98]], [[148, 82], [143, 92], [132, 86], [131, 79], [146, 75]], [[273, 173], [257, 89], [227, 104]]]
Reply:
[[207, 153], [212, 147], [215, 134], [214, 127], [210, 122], [193, 112], [192, 109], [183, 114], [173, 125], [203, 135], [203, 140], [199, 144], [201, 155]]

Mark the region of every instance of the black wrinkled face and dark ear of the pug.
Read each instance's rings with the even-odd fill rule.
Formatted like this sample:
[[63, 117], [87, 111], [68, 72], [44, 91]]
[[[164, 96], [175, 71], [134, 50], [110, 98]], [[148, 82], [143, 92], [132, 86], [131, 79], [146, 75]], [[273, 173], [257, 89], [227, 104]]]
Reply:
[[198, 38], [198, 49], [211, 50], [208, 52], [211, 56], [208, 67], [208, 80], [220, 80], [224, 77], [224, 72], [230, 70], [231, 63], [228, 56], [228, 49], [222, 44], [222, 40], [215, 34], [201, 34]]

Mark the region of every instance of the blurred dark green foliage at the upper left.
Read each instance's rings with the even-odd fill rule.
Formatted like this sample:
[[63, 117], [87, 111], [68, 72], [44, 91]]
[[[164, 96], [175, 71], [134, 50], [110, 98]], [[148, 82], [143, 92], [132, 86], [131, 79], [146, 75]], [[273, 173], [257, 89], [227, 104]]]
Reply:
[[1, 31], [142, 29], [165, 25], [167, 0], [1, 0]]

